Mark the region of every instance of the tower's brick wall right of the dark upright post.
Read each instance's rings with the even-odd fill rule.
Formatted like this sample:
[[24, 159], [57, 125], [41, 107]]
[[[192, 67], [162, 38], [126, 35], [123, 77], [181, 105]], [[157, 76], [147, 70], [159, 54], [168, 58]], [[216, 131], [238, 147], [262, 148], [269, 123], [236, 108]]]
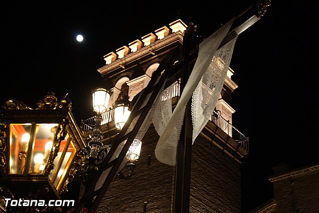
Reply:
[[190, 213], [240, 213], [239, 166], [199, 135], [192, 148]]

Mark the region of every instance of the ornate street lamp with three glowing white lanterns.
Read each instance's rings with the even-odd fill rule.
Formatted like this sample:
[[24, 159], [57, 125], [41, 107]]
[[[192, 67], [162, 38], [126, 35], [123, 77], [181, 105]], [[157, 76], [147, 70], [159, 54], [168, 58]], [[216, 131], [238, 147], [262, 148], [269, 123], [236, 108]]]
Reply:
[[[88, 149], [86, 151], [86, 170], [82, 176], [82, 181], [85, 185], [92, 180], [94, 174], [98, 170], [99, 165], [107, 155], [110, 146], [112, 146], [112, 143], [105, 145], [102, 142], [104, 136], [101, 127], [101, 123], [103, 121], [102, 113], [104, 113], [108, 107], [110, 96], [111, 94], [109, 90], [104, 88], [97, 88], [92, 91], [93, 111], [95, 111], [97, 115], [94, 117], [95, 124], [92, 128], [92, 131], [89, 133], [90, 139], [88, 141]], [[112, 106], [114, 110], [115, 127], [118, 129], [118, 131], [121, 131], [131, 114], [131, 102], [129, 101], [127, 84], [122, 85], [119, 97]], [[128, 163], [126, 164], [125, 168], [123, 168], [123, 171], [119, 172], [120, 178], [129, 179], [133, 175], [135, 162], [139, 158], [141, 146], [142, 142], [135, 140], [135, 143], [133, 143], [130, 147], [127, 154]], [[129, 169], [129, 172], [124, 171], [126, 168]], [[124, 173], [126, 173], [126, 175], [124, 175]]]

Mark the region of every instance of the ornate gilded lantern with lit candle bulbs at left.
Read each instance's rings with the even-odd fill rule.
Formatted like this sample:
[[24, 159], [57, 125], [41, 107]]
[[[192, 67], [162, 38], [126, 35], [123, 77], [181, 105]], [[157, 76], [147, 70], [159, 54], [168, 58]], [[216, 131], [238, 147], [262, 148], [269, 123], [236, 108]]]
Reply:
[[[36, 110], [16, 100], [6, 101], [2, 106], [2, 204], [4, 199], [59, 200], [67, 192], [67, 184], [84, 166], [85, 139], [71, 113], [70, 100], [64, 97], [58, 102], [53, 92], [47, 93], [43, 100], [37, 102]], [[7, 208], [17, 212], [48, 212], [55, 207]]]

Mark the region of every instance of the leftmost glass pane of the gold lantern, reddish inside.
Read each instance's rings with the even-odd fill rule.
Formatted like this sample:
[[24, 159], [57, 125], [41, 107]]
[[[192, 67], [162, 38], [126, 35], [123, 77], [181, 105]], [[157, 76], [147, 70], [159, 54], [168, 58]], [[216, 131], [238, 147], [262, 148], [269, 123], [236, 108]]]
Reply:
[[25, 171], [31, 124], [10, 124], [9, 174]]

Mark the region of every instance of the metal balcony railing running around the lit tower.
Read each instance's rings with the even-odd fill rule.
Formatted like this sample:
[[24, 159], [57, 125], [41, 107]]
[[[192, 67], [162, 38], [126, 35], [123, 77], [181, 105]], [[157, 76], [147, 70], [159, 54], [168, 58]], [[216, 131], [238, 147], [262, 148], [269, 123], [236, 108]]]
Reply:
[[[172, 97], [179, 96], [180, 83], [177, 81], [172, 90]], [[113, 109], [109, 109], [102, 113], [103, 121], [102, 125], [109, 123], [114, 120]], [[214, 111], [209, 119], [211, 122], [215, 123], [220, 129], [222, 129], [227, 135], [232, 137], [238, 144], [240, 144], [246, 150], [249, 150], [249, 140], [248, 137], [244, 136], [238, 129], [236, 129], [229, 120], [223, 118], [218, 112]], [[81, 120], [81, 127], [86, 132], [93, 128], [95, 124], [94, 117], [88, 118], [86, 120]]]

